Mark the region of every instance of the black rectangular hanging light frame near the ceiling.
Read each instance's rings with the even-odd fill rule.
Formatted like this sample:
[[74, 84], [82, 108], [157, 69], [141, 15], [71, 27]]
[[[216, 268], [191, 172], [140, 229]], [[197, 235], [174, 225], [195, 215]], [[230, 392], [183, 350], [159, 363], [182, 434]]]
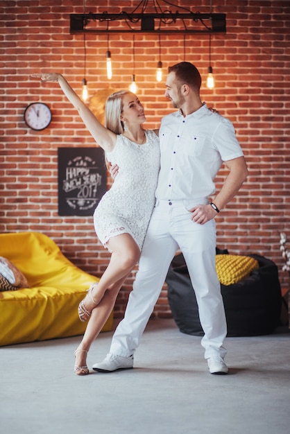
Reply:
[[[155, 19], [158, 19], [158, 28], [155, 28]], [[170, 30], [171, 24], [176, 24], [180, 19], [184, 25], [183, 29]], [[192, 21], [192, 24], [199, 24], [201, 28], [187, 28], [184, 20]], [[99, 21], [103, 28], [87, 28], [91, 21]], [[109, 28], [110, 21], [123, 21], [128, 28], [112, 26]], [[139, 25], [139, 28], [133, 26]], [[191, 24], [191, 25], [192, 25]], [[162, 28], [161, 28], [162, 26]], [[70, 15], [70, 33], [225, 33], [225, 14], [201, 14], [164, 12], [150, 14], [130, 14], [121, 12], [119, 14], [71, 14]]]

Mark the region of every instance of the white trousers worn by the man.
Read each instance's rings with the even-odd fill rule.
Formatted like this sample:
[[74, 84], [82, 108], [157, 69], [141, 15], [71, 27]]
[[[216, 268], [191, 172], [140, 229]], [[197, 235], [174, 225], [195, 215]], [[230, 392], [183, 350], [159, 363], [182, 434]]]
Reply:
[[[200, 203], [200, 202], [199, 202]], [[216, 275], [216, 227], [214, 220], [198, 225], [182, 201], [157, 201], [148, 225], [139, 270], [123, 320], [119, 323], [110, 352], [128, 357], [135, 352], [160, 295], [170, 263], [180, 248], [196, 293], [205, 336], [205, 358], [224, 357], [227, 333], [221, 285]]]

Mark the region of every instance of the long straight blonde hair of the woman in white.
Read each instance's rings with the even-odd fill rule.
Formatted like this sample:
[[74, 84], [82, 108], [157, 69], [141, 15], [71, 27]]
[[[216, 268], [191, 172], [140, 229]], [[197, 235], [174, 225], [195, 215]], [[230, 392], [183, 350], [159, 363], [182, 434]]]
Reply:
[[130, 94], [128, 90], [119, 90], [108, 96], [105, 103], [105, 128], [115, 134], [122, 134], [124, 130], [123, 122], [120, 119], [123, 112], [123, 96]]

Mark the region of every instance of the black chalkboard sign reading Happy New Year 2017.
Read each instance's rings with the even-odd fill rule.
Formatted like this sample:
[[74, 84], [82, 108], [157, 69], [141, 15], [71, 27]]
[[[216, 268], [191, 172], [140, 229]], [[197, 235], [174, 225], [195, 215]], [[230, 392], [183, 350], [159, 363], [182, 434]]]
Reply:
[[58, 148], [60, 216], [92, 216], [106, 190], [102, 148]]

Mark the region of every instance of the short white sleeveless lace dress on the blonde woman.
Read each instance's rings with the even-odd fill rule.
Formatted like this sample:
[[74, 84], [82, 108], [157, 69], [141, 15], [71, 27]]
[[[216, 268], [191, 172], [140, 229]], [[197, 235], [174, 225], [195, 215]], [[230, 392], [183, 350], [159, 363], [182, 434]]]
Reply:
[[96, 234], [105, 247], [112, 236], [130, 234], [140, 250], [155, 203], [160, 168], [159, 139], [146, 130], [145, 144], [138, 145], [122, 134], [108, 161], [119, 166], [111, 188], [94, 211]]

